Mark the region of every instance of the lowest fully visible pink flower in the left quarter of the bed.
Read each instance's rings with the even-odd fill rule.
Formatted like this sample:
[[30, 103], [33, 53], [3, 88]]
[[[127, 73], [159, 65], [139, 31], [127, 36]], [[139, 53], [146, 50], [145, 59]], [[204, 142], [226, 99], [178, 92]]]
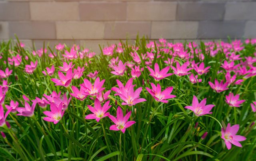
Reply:
[[54, 124], [57, 124], [61, 118], [64, 115], [65, 110], [62, 109], [62, 106], [56, 106], [56, 104], [50, 104], [51, 111], [44, 111], [43, 114], [45, 114], [47, 117], [44, 117], [43, 119], [48, 122], [53, 122]]

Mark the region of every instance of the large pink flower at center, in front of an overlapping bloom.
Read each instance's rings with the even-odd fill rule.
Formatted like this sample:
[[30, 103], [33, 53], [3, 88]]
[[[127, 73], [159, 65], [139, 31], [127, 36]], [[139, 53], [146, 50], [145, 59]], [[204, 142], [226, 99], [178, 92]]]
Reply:
[[140, 87], [134, 91], [132, 84], [128, 87], [128, 91], [125, 90], [125, 88], [121, 87], [120, 94], [118, 94], [118, 95], [124, 101], [124, 102], [122, 102], [122, 105], [132, 106], [132, 105], [135, 105], [140, 102], [145, 102], [146, 99], [140, 98], [141, 91], [142, 91], [142, 87]]

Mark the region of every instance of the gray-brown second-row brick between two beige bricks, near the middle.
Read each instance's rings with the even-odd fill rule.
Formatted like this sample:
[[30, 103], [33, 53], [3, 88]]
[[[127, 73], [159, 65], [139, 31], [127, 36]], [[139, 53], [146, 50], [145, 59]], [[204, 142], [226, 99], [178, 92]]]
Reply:
[[136, 39], [138, 33], [150, 37], [150, 28], [150, 22], [106, 23], [104, 39]]

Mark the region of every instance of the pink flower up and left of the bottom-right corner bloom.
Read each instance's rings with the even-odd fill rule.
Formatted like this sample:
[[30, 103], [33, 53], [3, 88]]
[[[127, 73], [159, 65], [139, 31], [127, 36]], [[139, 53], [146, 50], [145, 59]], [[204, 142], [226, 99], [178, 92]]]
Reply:
[[192, 110], [196, 116], [202, 116], [205, 114], [212, 114], [210, 110], [215, 106], [213, 104], [206, 104], [206, 98], [204, 98], [200, 103], [198, 102], [198, 99], [196, 96], [193, 96], [192, 100], [192, 106], [186, 106], [185, 108]]

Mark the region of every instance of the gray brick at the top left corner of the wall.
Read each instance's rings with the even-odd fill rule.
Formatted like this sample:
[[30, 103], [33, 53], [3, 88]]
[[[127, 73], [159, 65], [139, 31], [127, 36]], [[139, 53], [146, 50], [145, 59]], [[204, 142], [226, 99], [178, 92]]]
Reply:
[[0, 2], [0, 20], [29, 20], [28, 2]]

